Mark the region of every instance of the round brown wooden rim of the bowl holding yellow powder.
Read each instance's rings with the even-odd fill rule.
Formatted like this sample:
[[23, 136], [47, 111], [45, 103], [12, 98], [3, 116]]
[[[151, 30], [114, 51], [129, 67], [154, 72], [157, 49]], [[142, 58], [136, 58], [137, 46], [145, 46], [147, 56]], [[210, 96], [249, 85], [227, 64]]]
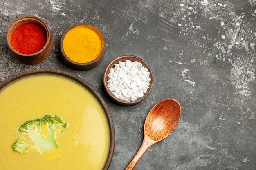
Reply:
[[[101, 39], [102, 39], [102, 43], [103, 43], [103, 47], [101, 49], [101, 53], [98, 55], [98, 57], [96, 57], [94, 60], [90, 61], [90, 62], [85, 62], [85, 63], [79, 63], [79, 62], [75, 62], [73, 60], [71, 60], [65, 53], [64, 51], [64, 48], [63, 48], [63, 41], [64, 41], [64, 38], [65, 36], [67, 35], [67, 33], [77, 27], [77, 26], [88, 26], [88, 27], [92, 27], [93, 29], [95, 29], [98, 33], [99, 36], [101, 36]], [[94, 30], [93, 30], [94, 31]], [[70, 26], [68, 29], [65, 30], [65, 32], [63, 33], [63, 35], [61, 36], [61, 41], [60, 41], [60, 49], [61, 49], [61, 56], [63, 57], [64, 61], [65, 62], [69, 62], [70, 64], [72, 65], [75, 65], [75, 66], [91, 66], [91, 65], [94, 65], [95, 63], [97, 63], [99, 60], [101, 61], [103, 59], [103, 56], [105, 54], [105, 51], [106, 51], [106, 40], [105, 40], [105, 37], [102, 33], [102, 31], [95, 25], [92, 25], [92, 24], [89, 24], [89, 23], [77, 23], [77, 24], [74, 24], [72, 26]]]

